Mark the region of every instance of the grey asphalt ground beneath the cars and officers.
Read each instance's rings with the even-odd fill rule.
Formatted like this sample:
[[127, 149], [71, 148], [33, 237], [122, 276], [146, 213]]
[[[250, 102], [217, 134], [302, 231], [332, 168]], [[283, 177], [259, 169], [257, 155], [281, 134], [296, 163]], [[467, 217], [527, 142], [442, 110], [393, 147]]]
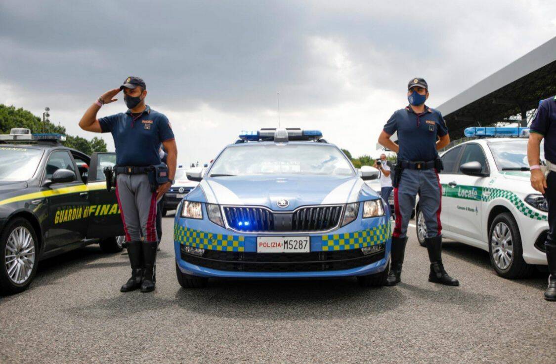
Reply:
[[460, 287], [429, 283], [415, 237], [397, 287], [354, 278], [211, 281], [183, 290], [172, 218], [154, 293], [120, 293], [127, 255], [90, 246], [41, 262], [29, 290], [0, 297], [0, 363], [555, 363], [547, 273], [509, 281], [488, 255], [444, 245]]

